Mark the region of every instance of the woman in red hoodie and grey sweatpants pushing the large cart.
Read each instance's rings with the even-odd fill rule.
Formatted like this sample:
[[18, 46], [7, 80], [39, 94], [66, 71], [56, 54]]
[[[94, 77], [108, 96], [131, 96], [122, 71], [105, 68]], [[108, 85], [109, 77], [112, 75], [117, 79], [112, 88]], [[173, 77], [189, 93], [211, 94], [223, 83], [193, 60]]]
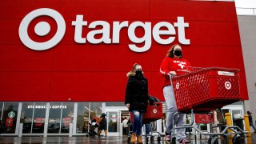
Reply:
[[[166, 99], [166, 141], [168, 143], [171, 141], [171, 133], [173, 131], [173, 117], [178, 111], [173, 86], [170, 85], [170, 76], [186, 74], [188, 66], [190, 66], [190, 62], [183, 58], [182, 47], [179, 45], [174, 45], [168, 50], [166, 58], [164, 58], [160, 66], [160, 73], [163, 77], [163, 95]], [[174, 125], [182, 126], [184, 123], [183, 118], [183, 114], [176, 117]], [[185, 128], [177, 129], [177, 141], [180, 143], [190, 143], [186, 139], [185, 130]]]

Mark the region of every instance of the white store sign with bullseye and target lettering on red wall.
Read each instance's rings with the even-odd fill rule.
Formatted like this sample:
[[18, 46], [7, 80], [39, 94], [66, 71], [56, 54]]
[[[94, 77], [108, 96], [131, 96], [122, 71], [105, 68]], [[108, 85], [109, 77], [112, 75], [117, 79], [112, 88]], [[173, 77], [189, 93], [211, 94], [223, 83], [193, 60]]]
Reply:
[[[53, 38], [46, 42], [34, 42], [28, 35], [28, 26], [34, 18], [40, 16], [49, 16], [54, 18], [57, 23], [57, 32]], [[158, 42], [162, 45], [168, 45], [174, 42], [176, 34], [178, 34], [178, 42], [183, 45], [190, 45], [190, 39], [186, 39], [186, 28], [189, 27], [188, 22], [184, 22], [184, 17], [177, 17], [177, 22], [171, 24], [170, 22], [158, 22], [153, 27], [151, 22], [113, 22], [109, 23], [106, 21], [94, 21], [87, 22], [83, 20], [83, 15], [76, 15], [76, 20], [72, 21], [72, 26], [74, 26], [74, 41], [80, 44], [86, 44], [90, 42], [92, 44], [118, 44], [120, 43], [120, 31], [127, 28], [128, 38], [131, 42], [128, 44], [130, 50], [134, 52], [146, 52], [150, 50], [152, 45], [152, 36], [155, 42]], [[89, 29], [86, 37], [82, 37], [84, 28]], [[102, 29], [97, 29], [96, 27], [102, 27]], [[136, 36], [136, 30], [142, 28], [144, 30], [144, 35], [142, 37]], [[177, 28], [177, 32], [175, 30]], [[164, 30], [163, 30], [164, 29]], [[110, 31], [112, 30], [112, 31]], [[18, 34], [22, 43], [32, 50], [48, 50], [58, 44], [65, 34], [66, 31], [66, 22], [62, 17], [62, 14], [59, 14], [58, 11], [52, 10], [49, 8], [41, 8], [31, 11], [29, 14], [26, 14], [25, 18], [22, 19], [22, 22], [19, 26]], [[35, 34], [38, 36], [46, 36], [50, 32], [50, 24], [48, 22], [38, 22], [34, 27]], [[95, 38], [96, 35], [102, 35], [101, 38]], [[161, 36], [165, 36], [162, 38]], [[136, 46], [136, 44], [144, 44], [143, 46]]]

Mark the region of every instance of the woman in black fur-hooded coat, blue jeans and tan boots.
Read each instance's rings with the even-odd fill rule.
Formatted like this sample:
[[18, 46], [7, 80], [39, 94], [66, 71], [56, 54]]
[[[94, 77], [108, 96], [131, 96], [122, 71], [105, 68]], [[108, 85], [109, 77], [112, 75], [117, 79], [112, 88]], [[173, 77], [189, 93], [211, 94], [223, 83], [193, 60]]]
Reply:
[[135, 63], [133, 69], [127, 74], [128, 82], [126, 86], [125, 104], [132, 112], [133, 134], [130, 143], [142, 143], [142, 115], [146, 112], [148, 103], [148, 83], [142, 72], [142, 66]]

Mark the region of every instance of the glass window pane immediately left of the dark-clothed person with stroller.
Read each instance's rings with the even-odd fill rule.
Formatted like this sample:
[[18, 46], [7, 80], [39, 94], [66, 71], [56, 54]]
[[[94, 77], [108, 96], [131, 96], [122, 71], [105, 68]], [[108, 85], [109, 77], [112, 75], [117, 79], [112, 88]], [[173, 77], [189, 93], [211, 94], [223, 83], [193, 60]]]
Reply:
[[78, 102], [78, 120], [77, 120], [77, 129], [76, 133], [88, 133], [90, 130], [89, 126], [89, 107], [90, 103]]

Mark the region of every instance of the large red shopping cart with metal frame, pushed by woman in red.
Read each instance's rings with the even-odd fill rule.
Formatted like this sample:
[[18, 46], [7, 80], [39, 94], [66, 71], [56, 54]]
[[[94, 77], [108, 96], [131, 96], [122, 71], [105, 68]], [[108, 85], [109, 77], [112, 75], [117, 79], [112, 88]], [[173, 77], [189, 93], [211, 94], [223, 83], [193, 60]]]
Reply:
[[[239, 70], [227, 69], [220, 67], [210, 68], [189, 68], [190, 73], [177, 77], [170, 77], [171, 85], [174, 88], [174, 96], [178, 108], [178, 112], [174, 114], [174, 118], [178, 114], [191, 114], [190, 124], [183, 126], [174, 126], [172, 134], [172, 143], [176, 142], [174, 137], [175, 129], [194, 128], [202, 135], [209, 135], [208, 143], [218, 143], [219, 135], [226, 135], [227, 130], [234, 132], [233, 142], [238, 142], [240, 136], [246, 134], [238, 126], [226, 126], [220, 133], [203, 133], [194, 124], [194, 114], [207, 114], [206, 122], [213, 123], [213, 114], [211, 110], [219, 109], [222, 114], [222, 106], [229, 105], [233, 102], [242, 100], [239, 86]], [[224, 118], [222, 114], [222, 118]], [[173, 119], [174, 123], [174, 119]], [[234, 130], [236, 128], [237, 130]]]

